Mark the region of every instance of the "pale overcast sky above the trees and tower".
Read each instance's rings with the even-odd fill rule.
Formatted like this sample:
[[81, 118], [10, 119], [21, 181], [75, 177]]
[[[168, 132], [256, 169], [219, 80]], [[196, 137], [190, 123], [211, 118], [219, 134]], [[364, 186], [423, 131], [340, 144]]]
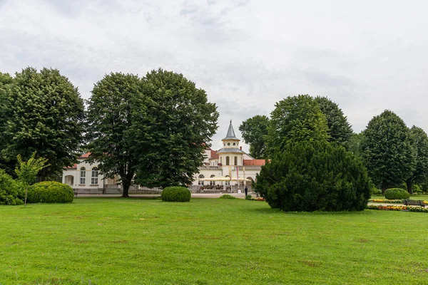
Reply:
[[[289, 95], [325, 95], [355, 132], [393, 110], [428, 130], [428, 2], [0, 0], [0, 71], [58, 68], [89, 98], [106, 73], [183, 73], [220, 112], [213, 149]], [[248, 150], [248, 147], [245, 147]]]

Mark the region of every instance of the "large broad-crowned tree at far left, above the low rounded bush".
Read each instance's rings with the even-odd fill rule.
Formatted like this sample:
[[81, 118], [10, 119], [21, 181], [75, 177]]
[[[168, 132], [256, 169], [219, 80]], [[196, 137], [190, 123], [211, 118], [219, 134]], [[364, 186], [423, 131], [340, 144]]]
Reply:
[[6, 145], [1, 152], [6, 161], [16, 161], [16, 155], [27, 160], [37, 152], [49, 161], [49, 167], [39, 172], [41, 180], [56, 178], [63, 167], [76, 162], [84, 107], [68, 78], [56, 69], [25, 68], [9, 84], [6, 106]]

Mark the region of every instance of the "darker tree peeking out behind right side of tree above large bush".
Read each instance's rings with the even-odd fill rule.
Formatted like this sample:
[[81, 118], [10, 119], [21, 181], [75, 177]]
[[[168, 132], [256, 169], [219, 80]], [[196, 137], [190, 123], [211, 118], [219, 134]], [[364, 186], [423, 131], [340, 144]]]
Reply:
[[342, 110], [330, 98], [317, 96], [315, 97], [315, 101], [327, 118], [328, 134], [330, 135], [329, 141], [337, 142], [349, 148], [353, 131]]

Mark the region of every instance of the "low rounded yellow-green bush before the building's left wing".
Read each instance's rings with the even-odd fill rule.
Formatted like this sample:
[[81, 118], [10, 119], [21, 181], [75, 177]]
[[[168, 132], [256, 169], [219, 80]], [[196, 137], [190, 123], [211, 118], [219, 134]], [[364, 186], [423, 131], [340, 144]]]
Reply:
[[29, 187], [28, 203], [69, 203], [73, 202], [73, 188], [68, 185], [44, 181]]

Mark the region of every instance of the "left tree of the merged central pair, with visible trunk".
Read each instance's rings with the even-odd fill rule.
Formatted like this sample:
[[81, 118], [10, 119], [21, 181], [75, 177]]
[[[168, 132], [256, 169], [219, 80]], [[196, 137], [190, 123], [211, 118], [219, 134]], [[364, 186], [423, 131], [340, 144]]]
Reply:
[[128, 197], [138, 160], [133, 152], [131, 127], [135, 124], [133, 103], [141, 96], [138, 76], [110, 73], [93, 86], [88, 100], [89, 161], [99, 162], [98, 169], [106, 177], [120, 178], [123, 197]]

